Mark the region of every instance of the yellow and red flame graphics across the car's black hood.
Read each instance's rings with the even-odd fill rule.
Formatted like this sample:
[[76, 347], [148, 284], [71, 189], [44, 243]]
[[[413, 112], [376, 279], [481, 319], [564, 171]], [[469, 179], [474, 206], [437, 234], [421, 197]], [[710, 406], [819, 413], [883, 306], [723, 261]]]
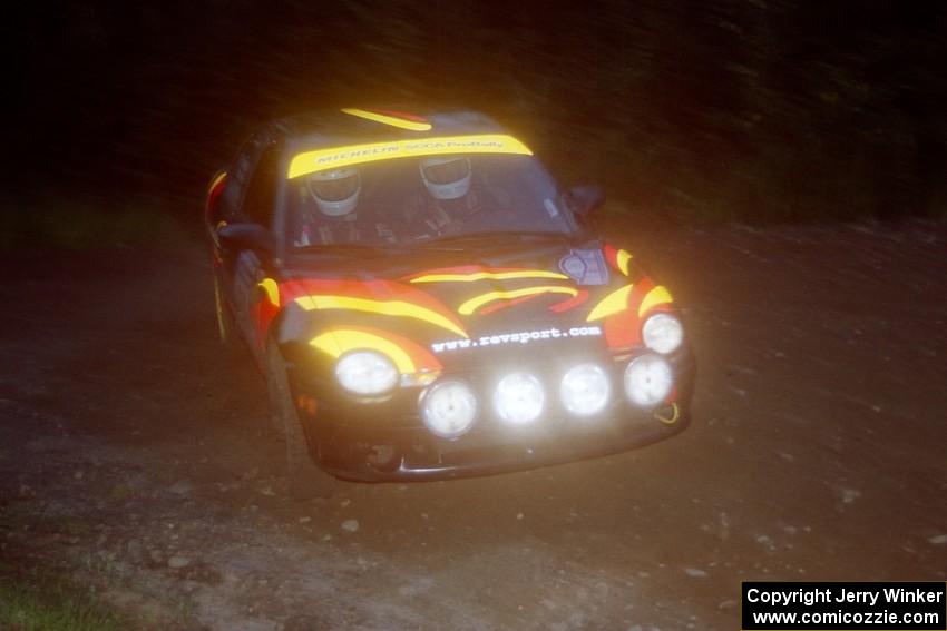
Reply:
[[[628, 253], [606, 248], [605, 255], [609, 264], [628, 276], [632, 258]], [[537, 280], [545, 283], [536, 284]], [[492, 284], [492, 288], [479, 293], [476, 289], [463, 290], [459, 297], [452, 298], [457, 299], [452, 307], [421, 289], [428, 284], [451, 284], [456, 287], [451, 289], [456, 295], [467, 285], [475, 288], [481, 283]], [[583, 305], [590, 295], [589, 289], [576, 287], [568, 276], [558, 272], [478, 265], [428, 269], [404, 277], [402, 282], [311, 278], [276, 283], [264, 278], [257, 287], [261, 299], [254, 316], [261, 339], [265, 338], [280, 310], [290, 304], [306, 312], [349, 310], [393, 317], [406, 324], [436, 327], [469, 339], [470, 335], [458, 315], [488, 316], [541, 296], [563, 296], [565, 299], [557, 299], [547, 307], [558, 314]], [[641, 344], [642, 319], [653, 310], [668, 309], [672, 300], [664, 286], [642, 277], [599, 297], [585, 321], [602, 322], [608, 347], [634, 346]], [[333, 357], [357, 348], [373, 349], [390, 357], [406, 375], [441, 369], [438, 361], [419, 344], [375, 327], [336, 326], [321, 333], [310, 344]]]

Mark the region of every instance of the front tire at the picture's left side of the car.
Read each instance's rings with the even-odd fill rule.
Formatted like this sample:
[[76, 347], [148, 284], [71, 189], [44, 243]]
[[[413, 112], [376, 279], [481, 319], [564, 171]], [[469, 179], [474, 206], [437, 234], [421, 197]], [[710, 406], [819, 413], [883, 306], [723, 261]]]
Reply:
[[309, 455], [309, 445], [286, 377], [286, 363], [273, 342], [266, 345], [266, 384], [270, 391], [270, 418], [276, 435], [286, 445], [287, 494], [294, 500], [331, 496], [335, 491], [335, 477], [322, 471]]

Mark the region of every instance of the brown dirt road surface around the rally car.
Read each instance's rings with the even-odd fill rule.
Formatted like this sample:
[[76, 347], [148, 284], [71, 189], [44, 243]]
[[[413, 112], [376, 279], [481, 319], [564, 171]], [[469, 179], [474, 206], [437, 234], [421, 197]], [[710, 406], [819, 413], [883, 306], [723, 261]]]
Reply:
[[203, 244], [8, 258], [0, 566], [222, 630], [732, 630], [745, 580], [947, 579], [947, 229], [627, 241], [685, 309], [685, 433], [304, 503]]

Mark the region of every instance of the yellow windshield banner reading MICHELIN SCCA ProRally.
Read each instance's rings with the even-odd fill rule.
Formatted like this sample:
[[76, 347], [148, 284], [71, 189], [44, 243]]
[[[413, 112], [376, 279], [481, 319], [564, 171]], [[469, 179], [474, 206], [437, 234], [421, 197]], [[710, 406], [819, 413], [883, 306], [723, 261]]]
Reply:
[[331, 147], [297, 154], [290, 161], [290, 179], [325, 169], [389, 160], [440, 156], [445, 154], [516, 154], [531, 156], [529, 148], [506, 134], [478, 134], [472, 136], [443, 136], [412, 140], [390, 140], [348, 147]]

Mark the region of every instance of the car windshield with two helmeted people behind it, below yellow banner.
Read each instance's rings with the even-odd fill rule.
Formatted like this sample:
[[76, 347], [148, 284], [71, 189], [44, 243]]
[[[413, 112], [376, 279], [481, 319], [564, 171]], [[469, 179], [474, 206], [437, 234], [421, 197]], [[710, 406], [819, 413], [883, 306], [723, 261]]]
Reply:
[[575, 219], [531, 156], [380, 160], [287, 181], [289, 243], [410, 246], [465, 236], [572, 235]]

